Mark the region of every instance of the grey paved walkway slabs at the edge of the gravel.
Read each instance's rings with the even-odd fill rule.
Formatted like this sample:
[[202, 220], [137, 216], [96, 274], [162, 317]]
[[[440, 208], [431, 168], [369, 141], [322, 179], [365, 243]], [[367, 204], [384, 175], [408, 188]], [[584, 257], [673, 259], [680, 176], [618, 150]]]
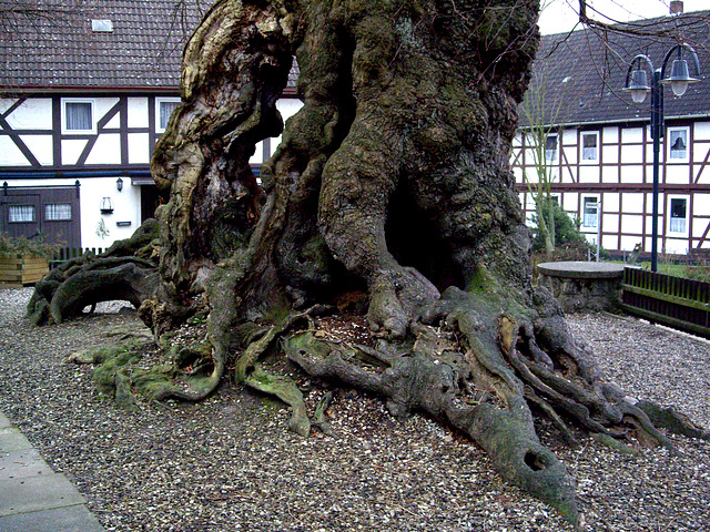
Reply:
[[0, 412], [0, 532], [104, 532], [85, 502]]

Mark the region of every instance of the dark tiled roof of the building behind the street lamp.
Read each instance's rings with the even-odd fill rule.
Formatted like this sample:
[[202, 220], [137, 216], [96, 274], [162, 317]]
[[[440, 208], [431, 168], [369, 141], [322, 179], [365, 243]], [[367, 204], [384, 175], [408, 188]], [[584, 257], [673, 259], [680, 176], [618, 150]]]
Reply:
[[[681, 98], [674, 96], [670, 89], [663, 90], [666, 119], [710, 116], [710, 11], [648, 19], [626, 27], [646, 33], [672, 29], [678, 37], [605, 34], [585, 29], [542, 38], [534, 64], [534, 85], [528, 95], [535, 93], [535, 83], [544, 85], [545, 123], [581, 125], [648, 121], [650, 98], [642, 104], [635, 104], [631, 96], [621, 91], [629, 64], [637, 54], [646, 54], [653, 68], [660, 69], [666, 53], [678, 43], [677, 39], [691, 44], [698, 52], [701, 73], [697, 78], [700, 82], [691, 84]], [[668, 71], [673, 58], [668, 62]], [[696, 76], [692, 65], [690, 75]], [[525, 125], [523, 116], [521, 125]]]

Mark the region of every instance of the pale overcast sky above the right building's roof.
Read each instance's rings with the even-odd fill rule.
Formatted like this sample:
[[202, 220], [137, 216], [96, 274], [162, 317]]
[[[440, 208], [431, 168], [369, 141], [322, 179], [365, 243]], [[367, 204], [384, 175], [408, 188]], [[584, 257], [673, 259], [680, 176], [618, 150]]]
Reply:
[[[578, 0], [542, 0], [540, 31], [561, 33], [571, 30], [578, 21]], [[600, 21], [626, 22], [652, 19], [670, 13], [670, 0], [587, 0], [587, 16]], [[709, 0], [684, 0], [683, 11], [710, 9]]]

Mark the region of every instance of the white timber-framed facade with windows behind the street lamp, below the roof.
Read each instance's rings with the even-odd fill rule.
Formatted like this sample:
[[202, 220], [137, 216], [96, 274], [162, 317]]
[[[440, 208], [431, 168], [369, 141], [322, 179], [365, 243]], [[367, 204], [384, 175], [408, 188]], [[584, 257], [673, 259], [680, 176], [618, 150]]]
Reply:
[[[587, 238], [609, 250], [651, 249], [653, 150], [648, 125], [570, 126], [548, 152], [552, 195]], [[514, 173], [528, 219], [535, 203], [525, 184], [538, 181], [529, 137], [514, 142]], [[710, 120], [666, 123], [659, 165], [658, 249], [686, 255], [710, 248]], [[525, 171], [525, 172], [524, 172]], [[594, 207], [594, 204], [598, 204]], [[599, 225], [600, 224], [600, 225]]]

